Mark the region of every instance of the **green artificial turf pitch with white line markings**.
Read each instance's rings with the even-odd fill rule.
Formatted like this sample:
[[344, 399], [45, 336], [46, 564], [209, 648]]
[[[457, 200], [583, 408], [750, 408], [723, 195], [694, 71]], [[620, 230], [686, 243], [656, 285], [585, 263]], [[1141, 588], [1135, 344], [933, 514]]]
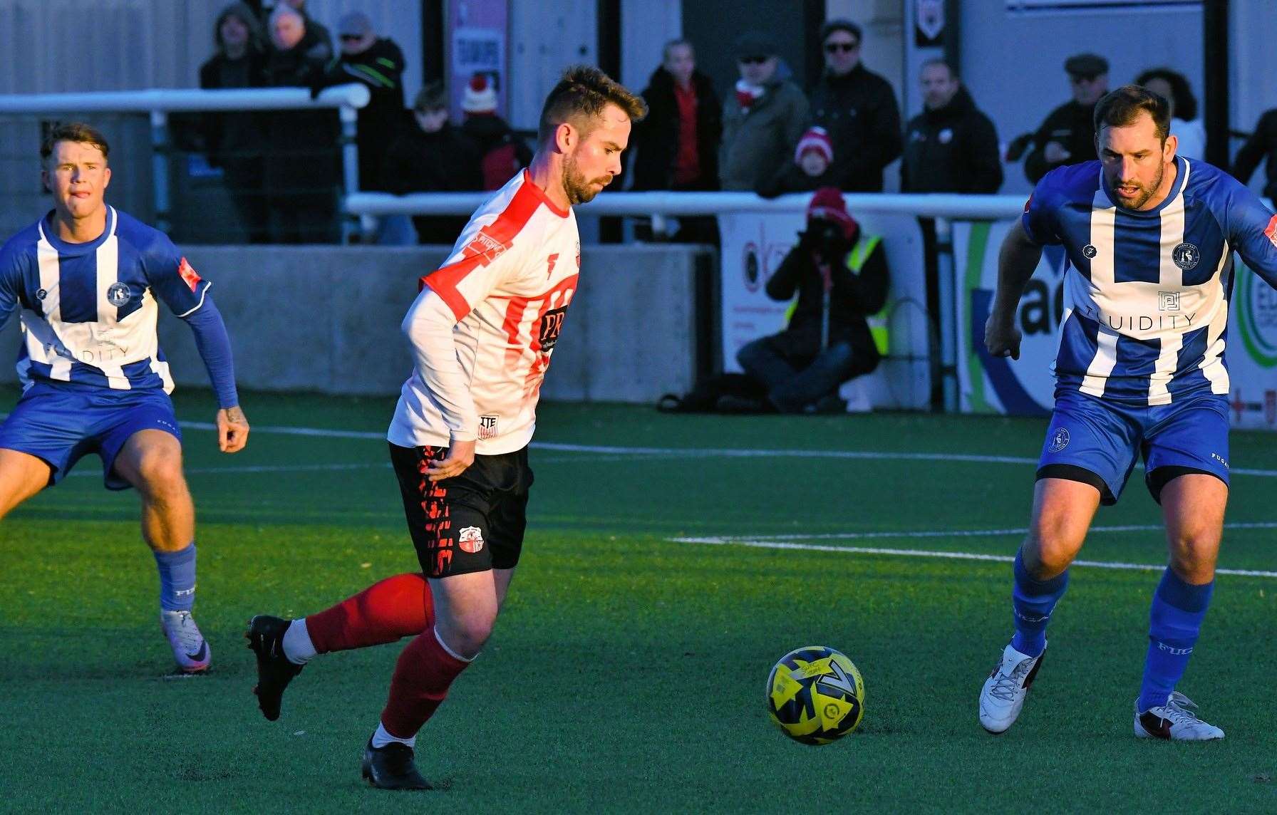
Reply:
[[[198, 391], [178, 405], [185, 422], [213, 414]], [[244, 405], [257, 432], [240, 455], [185, 432], [209, 676], [166, 677], [137, 497], [103, 491], [96, 457], [0, 522], [0, 811], [1277, 810], [1277, 577], [1218, 579], [1180, 686], [1222, 742], [1134, 738], [1158, 575], [1082, 566], [1020, 720], [991, 737], [976, 696], [1010, 635], [1010, 566], [810, 548], [1014, 554], [1033, 465], [953, 456], [1036, 459], [1041, 420], [609, 405], [541, 409], [538, 442], [585, 450], [531, 453], [510, 600], [418, 742], [441, 789], [369, 789], [359, 755], [398, 646], [321, 657], [272, 723], [241, 631], [416, 570], [379, 441], [393, 401]], [[811, 451], [886, 455], [792, 455]], [[903, 457], [917, 453], [935, 455]], [[1235, 433], [1232, 459], [1277, 470], [1277, 437]], [[1277, 521], [1273, 487], [1235, 475], [1230, 524]], [[1096, 524], [1158, 521], [1137, 470]], [[1277, 568], [1274, 535], [1230, 529], [1220, 566]], [[1083, 558], [1157, 565], [1165, 544], [1157, 529], [1096, 531]], [[867, 687], [861, 728], [824, 747], [788, 741], [764, 708], [771, 664], [810, 644], [844, 651]]]

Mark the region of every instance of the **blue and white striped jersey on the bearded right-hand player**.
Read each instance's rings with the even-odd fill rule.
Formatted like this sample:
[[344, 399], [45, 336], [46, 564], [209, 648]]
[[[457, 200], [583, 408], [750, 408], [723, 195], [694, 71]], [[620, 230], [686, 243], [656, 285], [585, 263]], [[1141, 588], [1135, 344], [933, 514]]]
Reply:
[[1024, 204], [1037, 244], [1064, 244], [1056, 387], [1139, 405], [1228, 392], [1232, 252], [1277, 287], [1277, 216], [1228, 174], [1175, 160], [1157, 208], [1114, 203], [1101, 162], [1048, 172]]

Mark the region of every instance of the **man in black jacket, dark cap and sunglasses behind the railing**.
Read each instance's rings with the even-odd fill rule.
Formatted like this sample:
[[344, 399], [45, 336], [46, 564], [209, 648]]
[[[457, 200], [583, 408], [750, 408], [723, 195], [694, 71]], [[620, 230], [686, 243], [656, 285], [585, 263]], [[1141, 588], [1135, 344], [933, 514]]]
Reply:
[[821, 31], [825, 73], [811, 91], [812, 124], [834, 142], [838, 187], [882, 192], [882, 169], [900, 155], [900, 109], [882, 77], [861, 64], [861, 27], [835, 19]]

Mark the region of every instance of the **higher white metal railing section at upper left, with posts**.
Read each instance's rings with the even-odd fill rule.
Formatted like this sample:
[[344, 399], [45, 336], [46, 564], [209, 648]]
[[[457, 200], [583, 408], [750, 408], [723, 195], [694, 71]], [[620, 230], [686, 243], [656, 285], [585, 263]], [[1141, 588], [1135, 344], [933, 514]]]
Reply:
[[[370, 95], [363, 84], [326, 88], [310, 98], [306, 88], [226, 88], [216, 91], [148, 88], [92, 93], [0, 95], [0, 114], [133, 112], [151, 116], [151, 164], [155, 184], [156, 227], [169, 224], [169, 114], [245, 110], [337, 109], [341, 120], [342, 199], [359, 189], [359, 153], [355, 119]], [[345, 224], [345, 222], [344, 222]], [[349, 225], [344, 226], [349, 230]]]

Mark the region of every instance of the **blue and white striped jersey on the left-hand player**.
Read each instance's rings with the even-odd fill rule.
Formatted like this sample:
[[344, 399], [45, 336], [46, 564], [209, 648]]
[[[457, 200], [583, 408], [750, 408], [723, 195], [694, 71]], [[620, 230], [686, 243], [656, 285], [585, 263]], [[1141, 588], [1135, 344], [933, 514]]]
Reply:
[[0, 249], [0, 324], [22, 309], [18, 373], [114, 390], [172, 391], [156, 337], [156, 296], [186, 317], [211, 285], [169, 238], [115, 207], [96, 240], [60, 240], [52, 213]]

